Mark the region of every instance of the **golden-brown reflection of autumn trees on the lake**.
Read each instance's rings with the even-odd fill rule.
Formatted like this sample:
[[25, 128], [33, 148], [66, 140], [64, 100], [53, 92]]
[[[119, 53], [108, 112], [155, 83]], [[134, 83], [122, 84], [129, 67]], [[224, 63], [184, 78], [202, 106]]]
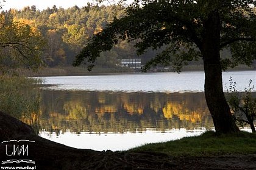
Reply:
[[211, 129], [204, 93], [41, 91], [40, 127], [71, 133]]

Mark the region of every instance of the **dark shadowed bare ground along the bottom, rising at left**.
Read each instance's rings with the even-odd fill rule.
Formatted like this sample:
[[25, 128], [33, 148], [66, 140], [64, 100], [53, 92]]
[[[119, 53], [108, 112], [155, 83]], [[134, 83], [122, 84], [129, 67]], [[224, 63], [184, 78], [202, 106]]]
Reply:
[[[17, 145], [16, 141], [1, 143], [0, 161], [34, 160], [37, 169], [256, 169], [256, 154], [172, 157], [158, 152], [99, 152], [75, 149], [36, 136], [32, 127], [0, 112], [0, 141], [8, 140], [35, 142], [18, 143], [20, 146], [29, 146], [29, 154], [24, 156], [7, 155], [11, 154], [12, 144]], [[11, 163], [8, 166], [27, 166], [27, 163]]]

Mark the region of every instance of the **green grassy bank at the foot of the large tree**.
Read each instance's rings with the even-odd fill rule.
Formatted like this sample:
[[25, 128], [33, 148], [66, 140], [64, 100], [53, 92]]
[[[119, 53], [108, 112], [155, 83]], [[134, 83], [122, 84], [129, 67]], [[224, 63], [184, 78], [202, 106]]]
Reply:
[[200, 136], [186, 137], [165, 143], [146, 144], [130, 151], [164, 152], [174, 156], [211, 156], [256, 154], [256, 134], [239, 132], [217, 135], [205, 132]]

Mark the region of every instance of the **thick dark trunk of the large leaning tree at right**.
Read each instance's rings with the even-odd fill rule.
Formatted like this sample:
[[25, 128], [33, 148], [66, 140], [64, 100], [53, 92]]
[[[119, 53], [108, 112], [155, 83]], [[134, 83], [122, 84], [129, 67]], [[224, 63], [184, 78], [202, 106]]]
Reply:
[[213, 118], [216, 132], [237, 132], [239, 129], [232, 118], [229, 105], [223, 93], [222, 69], [219, 54], [220, 19], [218, 12], [212, 12], [204, 22], [202, 55], [205, 72], [205, 99]]

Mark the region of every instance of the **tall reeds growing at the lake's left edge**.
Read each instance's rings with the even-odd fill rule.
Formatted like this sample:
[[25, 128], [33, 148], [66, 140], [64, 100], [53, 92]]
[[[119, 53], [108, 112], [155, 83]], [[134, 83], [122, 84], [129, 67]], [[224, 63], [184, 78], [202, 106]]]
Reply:
[[34, 87], [40, 83], [40, 79], [0, 76], [0, 110], [38, 131], [40, 94]]

